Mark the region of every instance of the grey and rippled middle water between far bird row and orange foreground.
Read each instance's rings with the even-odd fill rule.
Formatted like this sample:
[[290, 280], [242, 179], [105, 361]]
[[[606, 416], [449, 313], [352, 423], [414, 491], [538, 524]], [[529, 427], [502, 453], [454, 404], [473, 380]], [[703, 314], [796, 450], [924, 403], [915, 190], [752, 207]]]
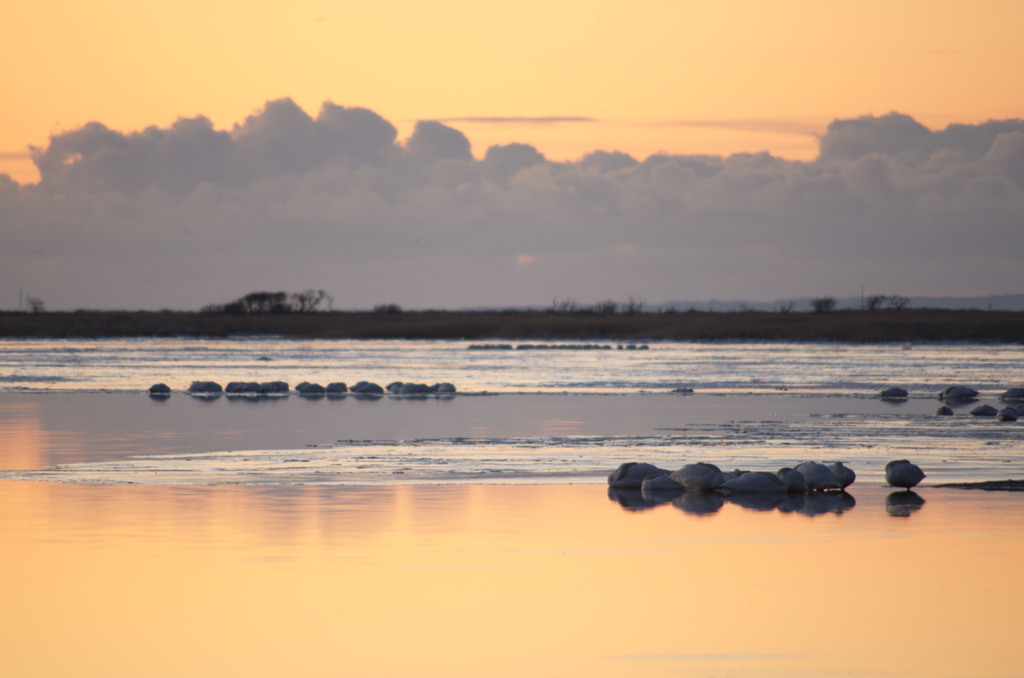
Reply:
[[844, 461], [881, 482], [1024, 477], [1019, 424], [935, 400], [502, 394], [452, 399], [0, 394], [0, 479], [133, 484], [604, 482], [626, 461], [776, 470]]

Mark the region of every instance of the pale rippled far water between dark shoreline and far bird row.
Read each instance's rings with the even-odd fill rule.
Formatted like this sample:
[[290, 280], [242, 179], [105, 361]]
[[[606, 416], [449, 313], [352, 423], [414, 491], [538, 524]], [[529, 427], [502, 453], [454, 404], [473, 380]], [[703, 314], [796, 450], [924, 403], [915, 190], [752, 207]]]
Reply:
[[470, 350], [475, 343], [485, 342], [5, 339], [0, 392], [139, 391], [156, 382], [182, 389], [208, 379], [292, 385], [449, 381], [463, 392], [487, 393], [664, 392], [686, 386], [701, 393], [843, 397], [868, 397], [892, 385], [934, 396], [964, 383], [994, 396], [1024, 383], [1022, 345], [635, 342], [648, 349]]

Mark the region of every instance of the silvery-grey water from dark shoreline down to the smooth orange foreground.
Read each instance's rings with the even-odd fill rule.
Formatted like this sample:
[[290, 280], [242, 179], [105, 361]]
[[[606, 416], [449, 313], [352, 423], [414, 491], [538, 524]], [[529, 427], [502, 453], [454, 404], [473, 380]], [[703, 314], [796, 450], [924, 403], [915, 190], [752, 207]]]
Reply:
[[[761, 470], [842, 460], [860, 481], [881, 481], [886, 462], [896, 458], [926, 467], [933, 483], [1024, 476], [1019, 424], [971, 416], [978, 402], [956, 405], [953, 417], [935, 416], [936, 394], [952, 384], [1000, 406], [1000, 392], [1024, 383], [1024, 346], [472, 345], [271, 337], [0, 341], [0, 426], [37, 426], [45, 441], [31, 460], [15, 463], [8, 454], [0, 478], [559, 483], [601, 482], [635, 460]], [[194, 380], [451, 382], [459, 394], [206, 399], [180, 392]], [[150, 399], [143, 391], [156, 382], [176, 393]], [[910, 396], [880, 399], [892, 385]], [[693, 392], [673, 392], [680, 387]]]

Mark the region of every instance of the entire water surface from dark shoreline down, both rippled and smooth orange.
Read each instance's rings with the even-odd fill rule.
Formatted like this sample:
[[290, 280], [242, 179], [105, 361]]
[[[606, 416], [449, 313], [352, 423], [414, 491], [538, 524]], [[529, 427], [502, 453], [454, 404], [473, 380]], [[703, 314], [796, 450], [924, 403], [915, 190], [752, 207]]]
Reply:
[[[1024, 477], [1021, 425], [934, 415], [1024, 348], [467, 346], [0, 341], [0, 674], [1020, 675], [1024, 500], [933, 485]], [[461, 394], [143, 392], [195, 379]], [[637, 459], [858, 480], [651, 506], [604, 486]]]

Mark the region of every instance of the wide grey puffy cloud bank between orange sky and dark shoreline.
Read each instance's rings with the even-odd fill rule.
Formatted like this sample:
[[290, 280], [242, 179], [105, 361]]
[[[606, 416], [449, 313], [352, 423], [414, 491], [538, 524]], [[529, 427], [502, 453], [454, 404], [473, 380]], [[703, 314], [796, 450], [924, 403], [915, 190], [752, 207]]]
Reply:
[[554, 163], [522, 143], [477, 159], [440, 121], [398, 139], [367, 109], [281, 99], [230, 130], [90, 123], [33, 159], [38, 184], [0, 175], [0, 289], [52, 308], [310, 287], [351, 308], [969, 295], [1019, 291], [1024, 260], [1019, 120], [837, 120], [814, 162]]

